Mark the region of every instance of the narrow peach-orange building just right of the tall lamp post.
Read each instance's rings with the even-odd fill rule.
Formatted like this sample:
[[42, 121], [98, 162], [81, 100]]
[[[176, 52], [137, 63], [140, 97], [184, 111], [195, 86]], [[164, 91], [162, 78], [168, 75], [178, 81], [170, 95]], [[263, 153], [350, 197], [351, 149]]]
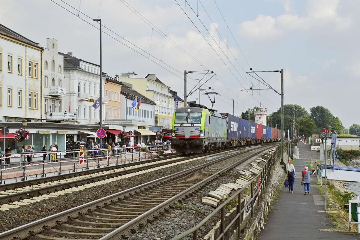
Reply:
[[105, 80], [105, 96], [109, 102], [105, 104], [105, 121], [121, 119], [121, 82], [107, 76]]

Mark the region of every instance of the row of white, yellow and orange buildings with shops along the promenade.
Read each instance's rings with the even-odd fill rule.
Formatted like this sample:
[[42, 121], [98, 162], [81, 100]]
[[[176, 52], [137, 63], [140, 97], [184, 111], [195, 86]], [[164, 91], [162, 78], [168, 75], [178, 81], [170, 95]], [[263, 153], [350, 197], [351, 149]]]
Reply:
[[[100, 92], [100, 74], [102, 92]], [[22, 143], [13, 139], [15, 130], [26, 128], [32, 145], [40, 151], [43, 145], [57, 142], [59, 150], [75, 144], [91, 148], [99, 128], [100, 112], [93, 104], [102, 96], [103, 128], [106, 141], [120, 141], [116, 134], [125, 128], [132, 141], [154, 140], [157, 132], [169, 132], [172, 113], [183, 106], [183, 100], [156, 74], [140, 78], [134, 72], [100, 73], [100, 66], [71, 52], [60, 53], [58, 42], [46, 39], [46, 47], [0, 24], [0, 121], [10, 133], [0, 141], [21, 150]], [[141, 99], [138, 111], [134, 99]], [[175, 104], [175, 100], [177, 101]], [[0, 143], [0, 150], [4, 145]]]

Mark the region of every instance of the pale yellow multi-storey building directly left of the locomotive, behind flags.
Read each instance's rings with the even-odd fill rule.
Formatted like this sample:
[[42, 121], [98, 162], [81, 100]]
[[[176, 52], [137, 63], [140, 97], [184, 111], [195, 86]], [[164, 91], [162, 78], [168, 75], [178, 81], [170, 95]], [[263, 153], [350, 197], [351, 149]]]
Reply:
[[122, 73], [120, 81], [130, 83], [132, 88], [156, 103], [155, 125], [170, 128], [174, 99], [170, 87], [160, 81], [156, 74], [148, 74], [145, 78], [136, 78], [136, 73]]

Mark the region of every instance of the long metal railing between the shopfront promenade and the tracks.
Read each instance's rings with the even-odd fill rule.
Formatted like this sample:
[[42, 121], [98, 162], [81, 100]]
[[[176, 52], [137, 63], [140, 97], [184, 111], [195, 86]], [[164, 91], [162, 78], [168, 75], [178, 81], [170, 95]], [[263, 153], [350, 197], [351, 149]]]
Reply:
[[[72, 165], [71, 168], [67, 167], [65, 171], [76, 172], [77, 170], [89, 169], [89, 165], [94, 168], [100, 168], [110, 166], [110, 164], [118, 165], [120, 163], [164, 157], [175, 152], [176, 150], [171, 148], [171, 145], [152, 145], [2, 154], [2, 157], [0, 157], [0, 184], [3, 184], [3, 173], [14, 173], [16, 170], [22, 172], [21, 181], [25, 181], [27, 178], [39, 178], [31, 176], [27, 172], [30, 171], [27, 170], [27, 167], [37, 166], [39, 169], [42, 168], [41, 177], [45, 177], [46, 173], [48, 173], [45, 172], [45, 166], [53, 168], [52, 172], [57, 172], [60, 175], [67, 173], [64, 172], [64, 166]], [[40, 159], [37, 160], [35, 158]], [[17, 161], [10, 163], [11, 159], [16, 159]], [[31, 171], [33, 171], [33, 168]]]

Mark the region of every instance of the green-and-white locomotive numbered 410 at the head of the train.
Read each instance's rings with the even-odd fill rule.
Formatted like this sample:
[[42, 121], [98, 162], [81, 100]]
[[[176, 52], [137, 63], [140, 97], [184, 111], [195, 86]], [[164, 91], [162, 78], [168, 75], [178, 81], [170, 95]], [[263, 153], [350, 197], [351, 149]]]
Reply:
[[227, 120], [207, 108], [177, 108], [172, 116], [171, 144], [181, 153], [207, 153], [226, 148]]

